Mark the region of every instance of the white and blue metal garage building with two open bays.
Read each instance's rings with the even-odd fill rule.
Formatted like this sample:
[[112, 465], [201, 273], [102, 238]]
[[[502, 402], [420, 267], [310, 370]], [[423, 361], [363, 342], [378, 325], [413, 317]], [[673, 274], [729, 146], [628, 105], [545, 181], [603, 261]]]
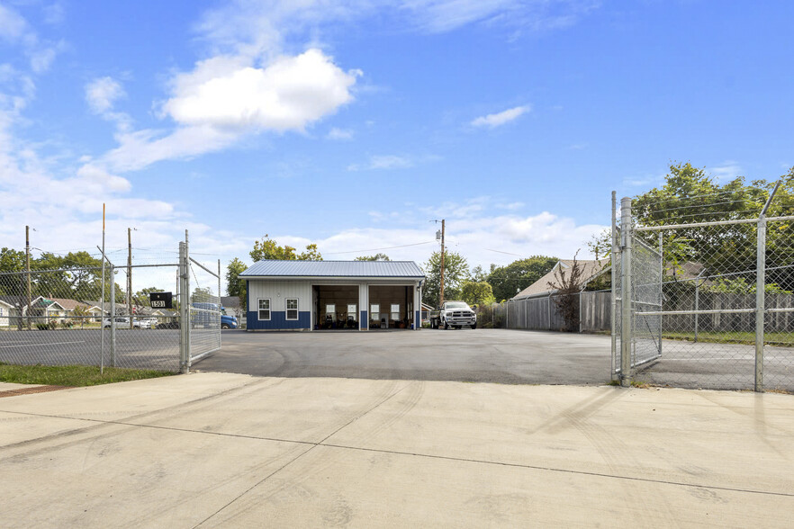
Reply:
[[412, 261], [275, 261], [239, 275], [248, 330], [421, 327], [425, 275]]

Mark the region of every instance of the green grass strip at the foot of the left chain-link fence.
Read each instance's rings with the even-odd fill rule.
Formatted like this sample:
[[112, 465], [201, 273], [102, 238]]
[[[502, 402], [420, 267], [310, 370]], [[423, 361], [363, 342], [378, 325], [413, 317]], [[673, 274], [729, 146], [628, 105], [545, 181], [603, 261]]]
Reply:
[[113, 382], [140, 381], [165, 377], [175, 373], [145, 369], [126, 369], [91, 365], [14, 365], [0, 363], [0, 381], [18, 384], [46, 384], [48, 386], [97, 386]]

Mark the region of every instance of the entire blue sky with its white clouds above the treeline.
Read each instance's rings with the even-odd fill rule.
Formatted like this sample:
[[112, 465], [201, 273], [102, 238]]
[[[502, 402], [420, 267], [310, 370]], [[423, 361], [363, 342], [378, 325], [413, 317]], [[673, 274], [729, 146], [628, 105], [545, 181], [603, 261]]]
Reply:
[[[794, 165], [789, 2], [0, 0], [0, 247], [570, 257], [671, 160]], [[422, 243], [422, 244], [420, 244]], [[412, 245], [412, 246], [407, 246]], [[397, 247], [397, 248], [394, 248]], [[389, 248], [389, 249], [382, 249]], [[142, 251], [142, 250], [141, 250]]]

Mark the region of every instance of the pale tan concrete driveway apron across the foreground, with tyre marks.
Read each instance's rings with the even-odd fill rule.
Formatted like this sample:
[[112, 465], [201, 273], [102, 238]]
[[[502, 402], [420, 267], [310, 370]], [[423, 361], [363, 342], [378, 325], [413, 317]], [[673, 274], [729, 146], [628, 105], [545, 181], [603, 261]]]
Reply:
[[[2, 390], [2, 385], [0, 385]], [[193, 373], [0, 399], [8, 527], [790, 527], [794, 399]]]

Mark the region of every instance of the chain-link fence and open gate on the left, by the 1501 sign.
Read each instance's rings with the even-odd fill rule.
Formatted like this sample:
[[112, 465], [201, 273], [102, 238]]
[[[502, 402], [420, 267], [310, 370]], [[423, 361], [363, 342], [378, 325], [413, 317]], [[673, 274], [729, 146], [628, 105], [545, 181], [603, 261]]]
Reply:
[[[0, 363], [185, 372], [221, 347], [220, 274], [191, 268], [185, 245], [132, 256], [109, 250], [104, 266], [0, 273]], [[211, 289], [197, 286], [188, 300], [191, 274]], [[172, 292], [171, 307], [152, 307], [150, 292]], [[195, 334], [184, 332], [193, 327]]]

